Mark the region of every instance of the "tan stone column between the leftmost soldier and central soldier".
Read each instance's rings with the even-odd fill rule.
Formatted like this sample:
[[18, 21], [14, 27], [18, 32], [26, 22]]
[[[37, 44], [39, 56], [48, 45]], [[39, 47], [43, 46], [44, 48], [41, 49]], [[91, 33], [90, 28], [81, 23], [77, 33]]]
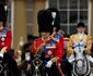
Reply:
[[16, 49], [20, 37], [24, 42], [27, 39], [26, 26], [26, 0], [14, 0], [14, 28], [13, 28], [13, 48]]

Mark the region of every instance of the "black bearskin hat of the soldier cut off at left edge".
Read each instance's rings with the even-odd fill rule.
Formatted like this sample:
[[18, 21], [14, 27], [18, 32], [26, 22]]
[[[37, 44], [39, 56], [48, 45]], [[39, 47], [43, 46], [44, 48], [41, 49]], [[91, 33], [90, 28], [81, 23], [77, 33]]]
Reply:
[[8, 11], [4, 9], [4, 5], [0, 4], [0, 22], [3, 22], [3, 26], [5, 26], [8, 16]]

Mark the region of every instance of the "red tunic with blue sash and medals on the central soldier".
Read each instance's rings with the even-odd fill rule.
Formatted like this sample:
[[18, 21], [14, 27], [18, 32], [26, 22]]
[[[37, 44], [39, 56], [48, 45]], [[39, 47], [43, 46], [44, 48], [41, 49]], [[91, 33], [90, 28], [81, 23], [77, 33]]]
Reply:
[[48, 41], [44, 41], [42, 38], [36, 39], [33, 42], [33, 47], [31, 49], [31, 52], [33, 54], [45, 52], [45, 58], [56, 58], [56, 62], [60, 63], [62, 58], [62, 51], [61, 51], [61, 45], [60, 42], [57, 42], [53, 39], [49, 39]]

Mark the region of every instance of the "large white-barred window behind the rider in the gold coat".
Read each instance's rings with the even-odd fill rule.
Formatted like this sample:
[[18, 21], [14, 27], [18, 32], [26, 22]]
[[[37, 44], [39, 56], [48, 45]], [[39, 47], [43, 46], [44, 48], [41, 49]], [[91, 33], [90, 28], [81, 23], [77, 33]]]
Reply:
[[77, 24], [81, 21], [89, 29], [89, 0], [48, 0], [49, 8], [60, 12], [61, 27], [65, 34], [75, 34]]

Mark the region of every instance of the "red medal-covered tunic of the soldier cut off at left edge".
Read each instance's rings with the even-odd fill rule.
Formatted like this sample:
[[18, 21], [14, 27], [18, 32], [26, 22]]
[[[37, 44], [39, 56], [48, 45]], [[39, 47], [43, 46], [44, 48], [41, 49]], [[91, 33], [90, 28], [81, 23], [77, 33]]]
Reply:
[[0, 49], [7, 47], [7, 51], [11, 48], [11, 40], [12, 40], [12, 35], [11, 30], [8, 28], [3, 28], [0, 30]]

